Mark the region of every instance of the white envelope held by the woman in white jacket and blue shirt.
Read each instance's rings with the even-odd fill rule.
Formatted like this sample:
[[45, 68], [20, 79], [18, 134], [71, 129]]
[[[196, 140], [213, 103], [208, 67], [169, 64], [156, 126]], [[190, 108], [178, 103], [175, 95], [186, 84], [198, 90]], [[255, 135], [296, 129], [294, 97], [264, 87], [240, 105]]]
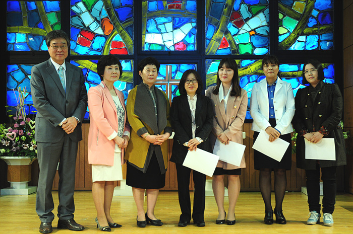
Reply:
[[285, 150], [287, 150], [289, 146], [289, 142], [280, 138], [270, 142], [268, 140], [269, 137], [269, 134], [267, 134], [264, 130], [261, 130], [253, 145], [253, 149], [256, 149], [268, 157], [281, 162]]

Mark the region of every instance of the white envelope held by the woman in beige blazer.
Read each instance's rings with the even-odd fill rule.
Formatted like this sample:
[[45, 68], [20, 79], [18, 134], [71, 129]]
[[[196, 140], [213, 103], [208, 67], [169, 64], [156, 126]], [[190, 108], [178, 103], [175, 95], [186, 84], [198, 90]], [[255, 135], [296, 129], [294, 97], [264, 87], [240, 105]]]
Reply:
[[244, 144], [233, 141], [229, 141], [229, 144], [225, 145], [217, 139], [214, 144], [213, 154], [218, 155], [220, 161], [240, 167], [245, 147]]

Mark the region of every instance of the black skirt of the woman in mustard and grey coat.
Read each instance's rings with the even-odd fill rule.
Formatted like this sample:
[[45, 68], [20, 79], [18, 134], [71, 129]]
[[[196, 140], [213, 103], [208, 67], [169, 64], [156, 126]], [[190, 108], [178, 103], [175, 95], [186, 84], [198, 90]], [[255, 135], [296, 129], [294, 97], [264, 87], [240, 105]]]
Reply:
[[165, 186], [165, 173], [160, 173], [156, 154], [153, 152], [146, 173], [127, 162], [126, 184], [139, 189], [161, 189]]

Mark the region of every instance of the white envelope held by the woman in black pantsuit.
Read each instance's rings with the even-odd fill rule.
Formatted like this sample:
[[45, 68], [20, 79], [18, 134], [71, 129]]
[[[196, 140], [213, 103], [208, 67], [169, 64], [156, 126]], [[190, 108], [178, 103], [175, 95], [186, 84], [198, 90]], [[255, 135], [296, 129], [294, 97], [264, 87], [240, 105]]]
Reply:
[[212, 177], [219, 157], [202, 149], [188, 150], [183, 166]]

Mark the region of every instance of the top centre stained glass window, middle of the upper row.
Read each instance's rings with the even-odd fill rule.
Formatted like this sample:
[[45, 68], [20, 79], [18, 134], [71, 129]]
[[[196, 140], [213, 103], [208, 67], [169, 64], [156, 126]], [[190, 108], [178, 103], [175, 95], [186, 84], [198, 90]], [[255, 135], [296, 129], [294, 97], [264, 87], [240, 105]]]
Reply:
[[196, 31], [196, 0], [142, 2], [142, 50], [196, 50]]

